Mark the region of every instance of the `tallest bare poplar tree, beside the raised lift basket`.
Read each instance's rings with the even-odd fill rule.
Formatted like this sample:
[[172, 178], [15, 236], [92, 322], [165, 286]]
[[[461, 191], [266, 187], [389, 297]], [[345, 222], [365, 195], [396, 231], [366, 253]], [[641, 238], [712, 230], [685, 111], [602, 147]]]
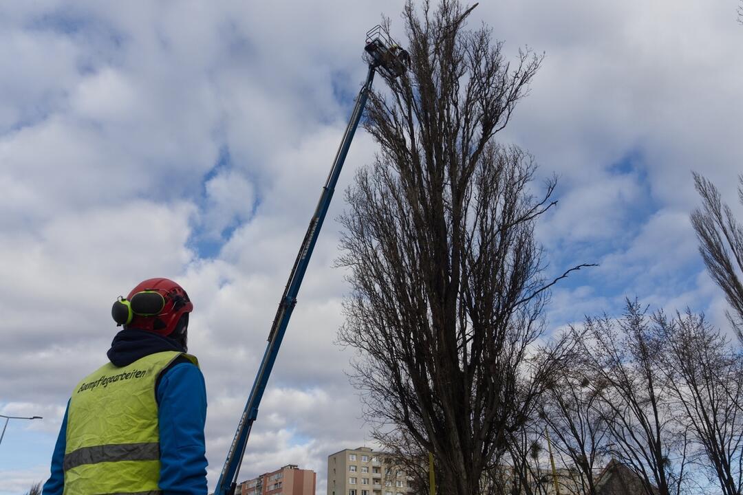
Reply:
[[465, 27], [472, 8], [406, 4], [410, 71], [369, 97], [380, 151], [347, 191], [338, 261], [352, 287], [339, 341], [359, 351], [374, 435], [432, 452], [442, 493], [460, 495], [480, 493], [551, 373], [533, 344], [557, 281], [533, 236], [555, 182], [533, 197], [531, 157], [493, 140], [540, 59], [506, 62], [487, 27]]

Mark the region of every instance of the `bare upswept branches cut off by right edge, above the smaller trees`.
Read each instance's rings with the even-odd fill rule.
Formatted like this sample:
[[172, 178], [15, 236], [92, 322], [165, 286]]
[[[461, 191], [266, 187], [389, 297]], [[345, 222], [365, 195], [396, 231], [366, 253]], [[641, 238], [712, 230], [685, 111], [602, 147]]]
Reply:
[[[743, 204], [743, 176], [738, 180], [738, 197]], [[743, 227], [730, 207], [722, 203], [713, 183], [695, 173], [694, 185], [702, 200], [701, 209], [695, 209], [691, 214], [699, 252], [707, 271], [733, 309], [727, 312], [727, 318], [743, 342]]]

